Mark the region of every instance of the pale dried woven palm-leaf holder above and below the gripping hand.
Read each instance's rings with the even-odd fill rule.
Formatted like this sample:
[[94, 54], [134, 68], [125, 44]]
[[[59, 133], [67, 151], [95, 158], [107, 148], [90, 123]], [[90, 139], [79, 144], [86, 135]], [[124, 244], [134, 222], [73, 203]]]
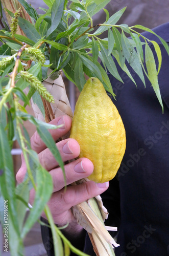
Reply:
[[[52, 70], [49, 69], [47, 75], [50, 75], [51, 72]], [[73, 118], [73, 112], [71, 111], [69, 100], [66, 95], [65, 84], [62, 79], [62, 71], [60, 71], [59, 77], [55, 80], [52, 80], [50, 76], [47, 77], [43, 81], [43, 86], [53, 95], [55, 102], [49, 103], [42, 99], [45, 109], [44, 118], [38, 106], [31, 100], [35, 117], [45, 122], [50, 122], [52, 119], [61, 115], [68, 115]], [[68, 136], [69, 134], [62, 139], [68, 138]], [[83, 179], [72, 185], [78, 185], [87, 180], [88, 179]], [[78, 224], [88, 232], [96, 255], [114, 255], [113, 248], [119, 245], [114, 241], [107, 230], [116, 231], [117, 228], [105, 226], [104, 221], [108, 218], [108, 211], [103, 205], [101, 196], [97, 196], [73, 206], [72, 212], [77, 219]]]

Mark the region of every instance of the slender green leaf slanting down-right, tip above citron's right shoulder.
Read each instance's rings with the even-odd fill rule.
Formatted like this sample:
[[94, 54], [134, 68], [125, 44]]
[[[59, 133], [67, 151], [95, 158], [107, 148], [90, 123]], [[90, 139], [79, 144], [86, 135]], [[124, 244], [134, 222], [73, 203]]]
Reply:
[[102, 44], [100, 44], [100, 46], [101, 46], [101, 53], [102, 53], [102, 56], [103, 56], [103, 59], [104, 59], [107, 69], [112, 74], [112, 76], [114, 76], [120, 82], [123, 82], [122, 78], [118, 74], [118, 71], [117, 71], [117, 68], [114, 63], [113, 58], [111, 57], [111, 55], [108, 55], [108, 51], [106, 50], [106, 48], [104, 46], [102, 46]]

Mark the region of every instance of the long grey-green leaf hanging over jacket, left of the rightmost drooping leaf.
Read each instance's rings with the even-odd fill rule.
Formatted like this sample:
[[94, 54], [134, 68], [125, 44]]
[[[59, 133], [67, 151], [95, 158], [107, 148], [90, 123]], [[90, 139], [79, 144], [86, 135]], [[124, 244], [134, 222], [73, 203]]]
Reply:
[[122, 47], [123, 47], [124, 55], [129, 65], [138, 74], [144, 86], [146, 86], [139, 57], [134, 47], [131, 45], [129, 39], [125, 36], [124, 32], [122, 32]]

